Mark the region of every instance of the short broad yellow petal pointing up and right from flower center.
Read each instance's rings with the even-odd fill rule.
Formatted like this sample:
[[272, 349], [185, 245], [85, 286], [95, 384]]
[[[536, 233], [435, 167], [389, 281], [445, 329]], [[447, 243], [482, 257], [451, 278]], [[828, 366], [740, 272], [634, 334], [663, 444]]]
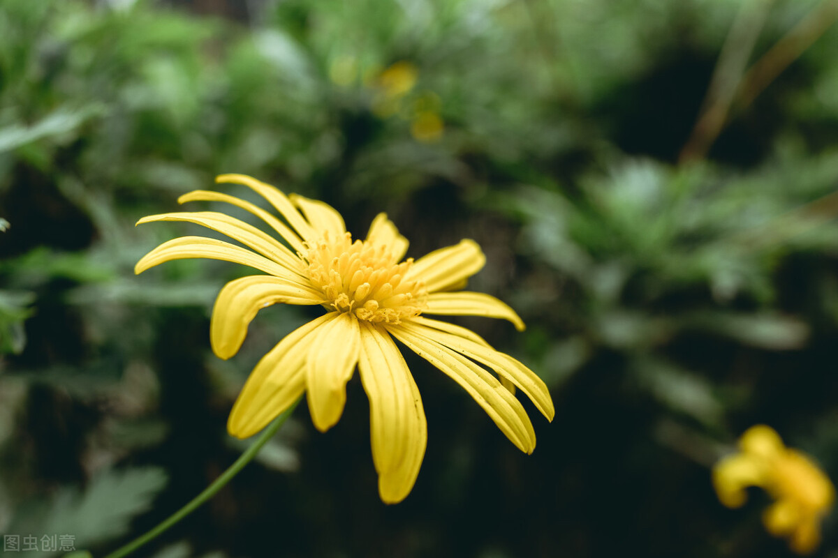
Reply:
[[417, 259], [406, 279], [422, 279], [427, 292], [446, 290], [483, 269], [486, 256], [473, 240], [461, 240], [454, 246], [440, 248]]

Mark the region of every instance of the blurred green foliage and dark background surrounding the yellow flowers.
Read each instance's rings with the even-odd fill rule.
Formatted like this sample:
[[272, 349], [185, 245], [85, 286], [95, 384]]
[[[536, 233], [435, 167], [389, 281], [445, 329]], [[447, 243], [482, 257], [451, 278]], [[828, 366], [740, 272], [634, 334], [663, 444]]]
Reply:
[[[556, 418], [524, 401], [526, 456], [406, 354], [429, 441], [403, 503], [378, 497], [355, 377], [336, 427], [303, 405], [137, 556], [790, 555], [768, 497], [726, 509], [710, 468], [766, 423], [838, 479], [835, 18], [830, 0], [3, 0], [0, 533], [103, 555], [248, 445], [225, 431], [235, 396], [318, 310], [261, 311], [220, 361], [209, 313], [250, 270], [133, 274], [205, 233], [137, 219], [235, 172], [356, 236], [388, 212], [409, 256], [475, 239], [470, 288], [528, 328], [454, 321], [544, 378]], [[816, 555], [838, 556], [835, 517], [824, 531]]]

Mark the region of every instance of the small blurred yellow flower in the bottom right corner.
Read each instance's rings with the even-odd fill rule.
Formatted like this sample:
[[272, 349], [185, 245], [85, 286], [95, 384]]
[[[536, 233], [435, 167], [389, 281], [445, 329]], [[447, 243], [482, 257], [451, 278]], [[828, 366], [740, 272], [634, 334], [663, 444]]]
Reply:
[[790, 537], [791, 549], [808, 554], [820, 543], [820, 520], [835, 500], [830, 479], [811, 459], [786, 448], [772, 428], [758, 425], [739, 439], [740, 453], [713, 468], [713, 486], [722, 504], [738, 508], [745, 488], [758, 486], [776, 500], [763, 514], [766, 530]]

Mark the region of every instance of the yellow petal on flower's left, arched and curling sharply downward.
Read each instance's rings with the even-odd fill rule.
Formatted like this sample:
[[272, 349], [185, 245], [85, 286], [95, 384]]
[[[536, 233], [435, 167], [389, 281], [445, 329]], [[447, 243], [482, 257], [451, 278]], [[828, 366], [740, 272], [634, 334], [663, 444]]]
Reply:
[[319, 305], [323, 303], [323, 295], [272, 275], [251, 275], [225, 284], [215, 299], [209, 325], [209, 340], [215, 355], [223, 359], [235, 355], [256, 312], [278, 302]]

